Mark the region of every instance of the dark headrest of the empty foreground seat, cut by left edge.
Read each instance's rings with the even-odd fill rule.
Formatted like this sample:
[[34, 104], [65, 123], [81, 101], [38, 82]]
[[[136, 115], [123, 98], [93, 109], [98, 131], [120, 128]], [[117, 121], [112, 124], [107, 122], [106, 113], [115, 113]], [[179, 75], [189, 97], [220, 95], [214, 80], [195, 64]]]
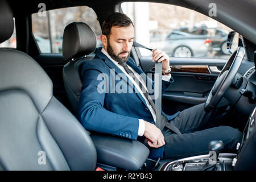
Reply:
[[7, 1], [0, 0], [0, 43], [5, 42], [13, 35], [13, 29], [13, 11]]

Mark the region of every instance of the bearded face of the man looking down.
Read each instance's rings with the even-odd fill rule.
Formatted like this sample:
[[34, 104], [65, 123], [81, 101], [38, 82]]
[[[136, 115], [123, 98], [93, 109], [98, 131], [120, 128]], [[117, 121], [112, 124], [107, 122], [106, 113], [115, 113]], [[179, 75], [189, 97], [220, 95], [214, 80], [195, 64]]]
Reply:
[[107, 51], [118, 63], [126, 62], [130, 57], [134, 40], [134, 27], [112, 27], [108, 39]]

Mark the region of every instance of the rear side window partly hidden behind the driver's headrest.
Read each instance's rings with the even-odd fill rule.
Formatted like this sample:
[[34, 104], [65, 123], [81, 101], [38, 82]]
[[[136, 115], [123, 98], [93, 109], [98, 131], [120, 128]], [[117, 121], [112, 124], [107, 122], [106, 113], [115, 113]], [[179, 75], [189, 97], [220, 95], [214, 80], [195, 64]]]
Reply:
[[92, 28], [101, 46], [101, 27], [93, 9], [86, 6], [68, 7], [46, 11], [45, 16], [32, 14], [32, 32], [42, 53], [62, 53], [65, 26], [72, 22], [84, 22]]

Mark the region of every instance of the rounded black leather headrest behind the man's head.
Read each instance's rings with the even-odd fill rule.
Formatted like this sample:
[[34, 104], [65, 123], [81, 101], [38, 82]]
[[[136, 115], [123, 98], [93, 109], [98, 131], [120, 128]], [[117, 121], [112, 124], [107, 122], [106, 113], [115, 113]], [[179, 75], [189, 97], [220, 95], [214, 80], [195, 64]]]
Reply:
[[89, 55], [96, 48], [96, 36], [86, 23], [70, 23], [64, 30], [62, 48], [64, 60]]

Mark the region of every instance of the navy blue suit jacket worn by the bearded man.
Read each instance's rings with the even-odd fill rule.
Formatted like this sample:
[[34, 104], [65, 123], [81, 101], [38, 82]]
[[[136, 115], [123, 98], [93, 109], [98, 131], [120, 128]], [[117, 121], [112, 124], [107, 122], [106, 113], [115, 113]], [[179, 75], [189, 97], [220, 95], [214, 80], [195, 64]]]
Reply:
[[[97, 48], [95, 54], [94, 59], [86, 61], [81, 69], [80, 122], [87, 130], [139, 139], [138, 119], [154, 123], [146, 102], [121, 69], [101, 52], [101, 48]], [[143, 73], [131, 57], [127, 64], [139, 75], [145, 76], [147, 84], [154, 88], [154, 81]], [[172, 78], [170, 82], [163, 80], [162, 93], [171, 82]], [[117, 93], [115, 88], [126, 92]], [[167, 118], [170, 120], [177, 114], [167, 115]]]

